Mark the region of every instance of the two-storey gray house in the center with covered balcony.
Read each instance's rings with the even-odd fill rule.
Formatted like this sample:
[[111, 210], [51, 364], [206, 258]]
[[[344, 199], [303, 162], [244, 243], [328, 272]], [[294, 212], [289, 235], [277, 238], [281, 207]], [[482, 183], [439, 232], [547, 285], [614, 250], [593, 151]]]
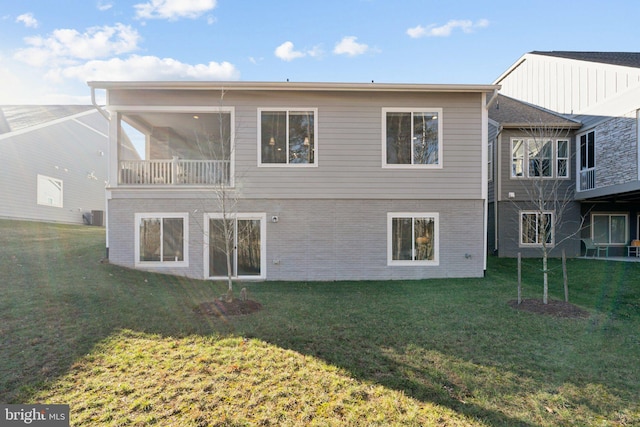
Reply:
[[89, 82], [107, 253], [199, 279], [480, 277], [495, 85]]

